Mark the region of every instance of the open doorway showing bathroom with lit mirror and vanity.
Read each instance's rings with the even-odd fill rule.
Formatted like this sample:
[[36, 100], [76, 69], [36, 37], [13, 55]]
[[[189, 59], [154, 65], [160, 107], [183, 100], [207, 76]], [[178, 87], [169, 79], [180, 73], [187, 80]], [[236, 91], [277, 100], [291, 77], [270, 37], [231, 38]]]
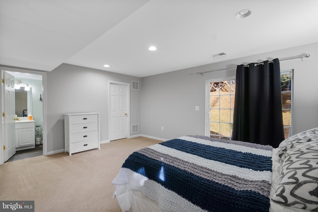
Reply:
[[[7, 161], [12, 161], [16, 159], [23, 159], [27, 157], [33, 157], [38, 155], [46, 155], [46, 136], [45, 136], [45, 122], [46, 118], [44, 116], [44, 88], [46, 81], [46, 73], [42, 71], [29, 71], [23, 69], [15, 69], [15, 68], [4, 68], [1, 67], [1, 72], [8, 72], [14, 76], [15, 85], [20, 85], [20, 89], [17, 88], [15, 91], [18, 95], [16, 98], [17, 105], [15, 104], [15, 135], [17, 138], [22, 138], [21, 145], [17, 145], [16, 153]], [[26, 87], [28, 87], [26, 89]], [[23, 94], [21, 90], [27, 90], [27, 94]], [[22, 97], [21, 97], [22, 96]], [[5, 102], [5, 99], [1, 99], [2, 104]], [[30, 118], [32, 117], [32, 118]], [[21, 123], [28, 122], [28, 120], [32, 120], [34, 126], [31, 126], [31, 130], [26, 131], [25, 129], [20, 130], [19, 126]], [[18, 124], [16, 124], [18, 123]], [[5, 130], [2, 128], [2, 130]], [[30, 139], [28, 136], [31, 136]], [[19, 137], [20, 136], [20, 137]], [[23, 143], [25, 140], [30, 140], [32, 143]], [[3, 144], [5, 141], [1, 141]], [[20, 142], [16, 140], [16, 142]], [[4, 150], [3, 150], [4, 151]], [[3, 158], [3, 151], [0, 156]], [[5, 161], [0, 160], [0, 164]]]

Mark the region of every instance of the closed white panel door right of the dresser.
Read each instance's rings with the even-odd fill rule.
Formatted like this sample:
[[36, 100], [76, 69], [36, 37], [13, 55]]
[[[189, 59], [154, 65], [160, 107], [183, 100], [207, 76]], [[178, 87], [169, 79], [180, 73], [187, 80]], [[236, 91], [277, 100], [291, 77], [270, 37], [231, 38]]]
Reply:
[[127, 138], [127, 87], [110, 84], [110, 141]]

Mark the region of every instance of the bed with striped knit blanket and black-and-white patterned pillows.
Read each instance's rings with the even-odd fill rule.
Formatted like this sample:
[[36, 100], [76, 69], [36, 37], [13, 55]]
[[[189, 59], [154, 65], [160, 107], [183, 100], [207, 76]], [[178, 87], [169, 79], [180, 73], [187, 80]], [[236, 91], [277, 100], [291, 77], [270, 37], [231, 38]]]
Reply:
[[133, 152], [112, 184], [123, 212], [318, 211], [318, 128], [278, 148], [184, 136]]

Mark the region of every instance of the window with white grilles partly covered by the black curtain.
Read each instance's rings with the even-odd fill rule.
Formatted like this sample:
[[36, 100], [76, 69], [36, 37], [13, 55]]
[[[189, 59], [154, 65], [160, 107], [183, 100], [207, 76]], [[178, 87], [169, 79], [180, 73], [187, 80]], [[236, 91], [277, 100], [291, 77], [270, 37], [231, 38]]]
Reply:
[[[282, 110], [285, 139], [290, 136], [292, 128], [293, 72], [281, 71]], [[235, 100], [235, 76], [227, 80], [208, 83], [208, 131], [210, 137], [231, 140], [233, 130], [233, 113]]]

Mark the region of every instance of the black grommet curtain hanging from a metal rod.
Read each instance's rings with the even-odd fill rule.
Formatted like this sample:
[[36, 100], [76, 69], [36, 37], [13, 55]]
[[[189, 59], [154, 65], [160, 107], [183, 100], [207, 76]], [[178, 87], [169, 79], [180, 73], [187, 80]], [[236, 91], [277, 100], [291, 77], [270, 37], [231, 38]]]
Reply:
[[278, 59], [238, 66], [232, 140], [273, 147], [284, 140]]

